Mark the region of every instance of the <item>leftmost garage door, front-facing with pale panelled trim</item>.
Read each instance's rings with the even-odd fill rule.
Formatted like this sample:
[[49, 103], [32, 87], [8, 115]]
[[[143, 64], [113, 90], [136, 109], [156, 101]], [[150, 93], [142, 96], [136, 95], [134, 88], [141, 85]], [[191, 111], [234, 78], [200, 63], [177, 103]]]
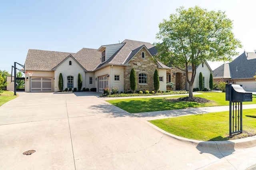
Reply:
[[52, 92], [51, 77], [31, 78], [30, 92]]

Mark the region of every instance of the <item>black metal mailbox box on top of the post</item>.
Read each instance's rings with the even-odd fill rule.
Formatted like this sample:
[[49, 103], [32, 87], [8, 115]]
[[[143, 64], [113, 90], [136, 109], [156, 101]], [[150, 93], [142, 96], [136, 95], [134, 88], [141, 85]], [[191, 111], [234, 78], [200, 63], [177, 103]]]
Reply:
[[[231, 87], [231, 95], [230, 95]], [[231, 96], [231, 99], [230, 99]], [[246, 92], [238, 84], [226, 84], [226, 101], [231, 102], [252, 102], [252, 93]]]

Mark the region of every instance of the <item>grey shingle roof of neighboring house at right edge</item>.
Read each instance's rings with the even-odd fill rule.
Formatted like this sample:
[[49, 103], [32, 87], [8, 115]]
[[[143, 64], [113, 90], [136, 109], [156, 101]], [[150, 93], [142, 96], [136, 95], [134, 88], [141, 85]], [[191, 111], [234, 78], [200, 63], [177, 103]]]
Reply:
[[253, 78], [256, 72], [256, 53], [244, 52], [231, 63], [222, 64], [213, 72], [213, 78]]

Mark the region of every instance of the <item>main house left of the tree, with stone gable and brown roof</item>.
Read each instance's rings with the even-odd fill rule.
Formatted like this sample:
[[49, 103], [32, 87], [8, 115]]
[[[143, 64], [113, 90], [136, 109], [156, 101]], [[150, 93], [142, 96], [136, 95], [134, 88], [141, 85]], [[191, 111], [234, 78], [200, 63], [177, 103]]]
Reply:
[[119, 44], [103, 45], [99, 49], [83, 48], [77, 53], [29, 49], [25, 61], [26, 92], [58, 92], [60, 73], [65, 88], [118, 86], [119, 92], [130, 90], [130, 71], [135, 68], [137, 90], [153, 90], [153, 75], [158, 69], [160, 88], [166, 90], [168, 66], [156, 61], [154, 45], [141, 41], [124, 40]]

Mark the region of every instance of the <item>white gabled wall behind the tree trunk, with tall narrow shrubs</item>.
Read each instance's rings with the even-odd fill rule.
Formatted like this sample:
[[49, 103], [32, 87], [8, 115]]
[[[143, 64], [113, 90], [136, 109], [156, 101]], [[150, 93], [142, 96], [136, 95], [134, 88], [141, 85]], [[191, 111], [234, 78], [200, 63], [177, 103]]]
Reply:
[[[204, 64], [204, 67], [202, 67], [202, 64], [200, 64], [196, 68], [196, 77], [195, 77], [195, 81], [194, 81], [194, 84], [193, 84], [193, 88], [199, 88], [199, 74], [200, 74], [200, 72], [202, 72], [202, 75], [204, 77], [204, 88], [207, 88], [207, 89], [210, 90], [209, 80], [210, 80], [211, 70], [206, 64]], [[188, 80], [191, 80], [191, 75], [192, 75], [192, 73], [189, 72], [188, 73]], [[186, 82], [186, 90], [188, 90], [188, 82]]]

